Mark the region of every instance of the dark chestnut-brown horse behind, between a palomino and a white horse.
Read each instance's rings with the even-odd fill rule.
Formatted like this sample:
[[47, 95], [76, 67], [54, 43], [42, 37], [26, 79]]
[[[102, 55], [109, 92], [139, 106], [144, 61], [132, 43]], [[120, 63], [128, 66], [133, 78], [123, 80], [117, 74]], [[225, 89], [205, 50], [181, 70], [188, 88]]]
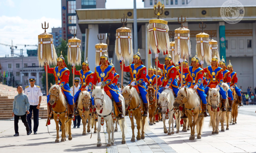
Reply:
[[149, 100], [149, 110], [148, 110], [148, 117], [149, 117], [149, 125], [156, 124], [155, 123], [155, 108], [156, 108], [156, 102], [155, 102], [155, 89], [154, 87], [148, 87], [148, 100]]

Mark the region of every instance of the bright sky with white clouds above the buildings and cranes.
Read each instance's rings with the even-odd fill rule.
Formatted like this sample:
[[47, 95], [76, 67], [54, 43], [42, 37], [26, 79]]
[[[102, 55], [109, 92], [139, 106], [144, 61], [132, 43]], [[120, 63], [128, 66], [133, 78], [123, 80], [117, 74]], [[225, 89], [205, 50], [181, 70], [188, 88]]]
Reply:
[[[144, 7], [142, 0], [136, 0], [136, 7]], [[106, 8], [133, 8], [133, 0], [106, 0]], [[17, 49], [37, 49], [37, 36], [44, 32], [42, 23], [49, 22], [49, 29], [61, 27], [61, 0], [0, 0], [0, 57], [11, 56], [11, 40]], [[14, 54], [20, 50], [14, 50]], [[17, 55], [14, 55], [17, 56]]]

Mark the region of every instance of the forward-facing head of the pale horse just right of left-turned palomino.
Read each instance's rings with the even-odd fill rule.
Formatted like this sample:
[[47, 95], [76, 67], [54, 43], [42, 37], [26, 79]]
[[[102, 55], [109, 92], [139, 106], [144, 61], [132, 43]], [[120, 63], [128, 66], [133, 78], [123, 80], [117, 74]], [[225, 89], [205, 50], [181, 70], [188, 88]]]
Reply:
[[209, 88], [208, 104], [212, 107], [213, 110], [216, 110], [218, 107], [217, 105], [219, 103], [220, 98], [219, 90], [220, 88]]

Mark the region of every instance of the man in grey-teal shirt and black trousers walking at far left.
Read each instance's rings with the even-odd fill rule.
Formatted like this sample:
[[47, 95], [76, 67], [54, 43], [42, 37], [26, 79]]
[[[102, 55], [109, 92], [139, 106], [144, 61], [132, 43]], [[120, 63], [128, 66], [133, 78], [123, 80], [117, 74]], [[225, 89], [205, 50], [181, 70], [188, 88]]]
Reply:
[[[21, 85], [17, 86], [18, 95], [14, 97], [12, 116], [14, 116], [14, 131], [13, 136], [19, 136], [19, 126], [18, 122], [21, 118], [21, 121], [24, 123], [27, 131], [27, 135], [30, 135], [29, 126], [26, 119], [26, 115], [29, 114], [29, 101], [27, 95], [23, 94], [23, 88]], [[27, 113], [27, 114], [26, 114]]]

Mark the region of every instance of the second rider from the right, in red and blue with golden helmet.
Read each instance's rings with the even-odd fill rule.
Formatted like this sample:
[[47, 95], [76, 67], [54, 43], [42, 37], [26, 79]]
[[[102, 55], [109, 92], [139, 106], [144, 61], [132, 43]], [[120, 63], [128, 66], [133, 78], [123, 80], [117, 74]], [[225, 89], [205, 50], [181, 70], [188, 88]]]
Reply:
[[[220, 61], [220, 67], [223, 69], [222, 70], [222, 73], [223, 73], [223, 82], [226, 82], [228, 85], [231, 81], [231, 76], [230, 76], [230, 72], [229, 70], [227, 70], [227, 67], [226, 67], [226, 62], [225, 62], [225, 59], [222, 58], [221, 61]], [[229, 110], [228, 112], [232, 112], [232, 105], [233, 105], [233, 101], [234, 101], [234, 98], [233, 98], [233, 92], [230, 90], [230, 85], [229, 85], [229, 89], [228, 89], [228, 96], [229, 96]]]

